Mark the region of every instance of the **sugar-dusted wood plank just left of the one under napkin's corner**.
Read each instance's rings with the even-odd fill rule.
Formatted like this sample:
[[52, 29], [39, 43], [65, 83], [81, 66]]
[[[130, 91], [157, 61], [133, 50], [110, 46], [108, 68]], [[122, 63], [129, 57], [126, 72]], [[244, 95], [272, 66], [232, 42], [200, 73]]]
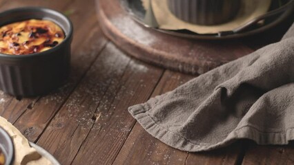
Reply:
[[104, 50], [37, 144], [53, 153], [62, 164], [70, 164], [92, 128], [97, 106], [109, 86], [119, 83], [129, 61], [112, 49]]

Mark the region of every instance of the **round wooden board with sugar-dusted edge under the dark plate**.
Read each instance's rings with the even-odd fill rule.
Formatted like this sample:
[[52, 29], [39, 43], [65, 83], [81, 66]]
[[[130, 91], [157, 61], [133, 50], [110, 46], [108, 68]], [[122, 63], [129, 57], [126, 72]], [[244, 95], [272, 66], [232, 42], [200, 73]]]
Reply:
[[104, 34], [121, 50], [146, 63], [203, 74], [252, 52], [237, 40], [196, 41], [164, 34], [133, 20], [119, 0], [96, 2]]

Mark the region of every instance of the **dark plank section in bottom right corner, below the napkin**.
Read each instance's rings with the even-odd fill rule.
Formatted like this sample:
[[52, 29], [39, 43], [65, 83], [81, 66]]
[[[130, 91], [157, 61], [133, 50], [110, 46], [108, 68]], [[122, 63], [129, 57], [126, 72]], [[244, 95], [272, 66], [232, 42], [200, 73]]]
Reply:
[[246, 149], [242, 164], [294, 164], [293, 146], [293, 143], [288, 146], [258, 146], [251, 142]]

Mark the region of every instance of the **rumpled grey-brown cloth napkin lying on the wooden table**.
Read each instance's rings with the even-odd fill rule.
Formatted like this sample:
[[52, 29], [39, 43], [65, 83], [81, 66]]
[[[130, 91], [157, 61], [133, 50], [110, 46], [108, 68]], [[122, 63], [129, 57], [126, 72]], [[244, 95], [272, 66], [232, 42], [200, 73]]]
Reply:
[[128, 109], [154, 137], [183, 151], [247, 138], [294, 140], [294, 24], [282, 41]]

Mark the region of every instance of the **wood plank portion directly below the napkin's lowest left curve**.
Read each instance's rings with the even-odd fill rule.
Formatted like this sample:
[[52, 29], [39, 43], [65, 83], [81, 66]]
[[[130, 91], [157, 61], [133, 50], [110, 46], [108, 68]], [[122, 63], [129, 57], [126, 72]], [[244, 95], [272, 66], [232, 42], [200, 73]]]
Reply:
[[114, 164], [184, 164], [187, 152], [159, 142], [136, 123]]

